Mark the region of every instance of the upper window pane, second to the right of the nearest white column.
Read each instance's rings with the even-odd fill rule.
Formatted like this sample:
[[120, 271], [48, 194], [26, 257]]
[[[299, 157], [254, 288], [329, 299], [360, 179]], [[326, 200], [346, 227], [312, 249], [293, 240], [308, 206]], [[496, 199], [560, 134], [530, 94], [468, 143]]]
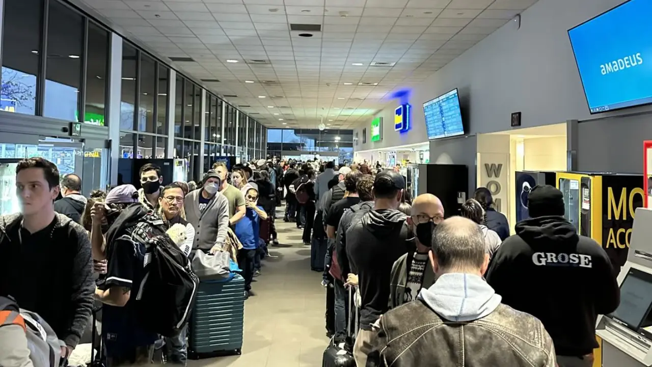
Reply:
[[140, 95], [138, 101], [138, 131], [154, 133], [154, 99], [158, 94], [155, 89], [156, 63], [154, 59], [140, 53]]

